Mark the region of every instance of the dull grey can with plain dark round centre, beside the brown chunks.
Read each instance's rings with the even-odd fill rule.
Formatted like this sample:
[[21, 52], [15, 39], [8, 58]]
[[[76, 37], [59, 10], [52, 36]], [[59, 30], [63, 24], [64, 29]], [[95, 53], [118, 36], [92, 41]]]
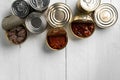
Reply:
[[45, 16], [38, 12], [32, 12], [26, 18], [25, 24], [31, 33], [42, 33], [47, 27]]

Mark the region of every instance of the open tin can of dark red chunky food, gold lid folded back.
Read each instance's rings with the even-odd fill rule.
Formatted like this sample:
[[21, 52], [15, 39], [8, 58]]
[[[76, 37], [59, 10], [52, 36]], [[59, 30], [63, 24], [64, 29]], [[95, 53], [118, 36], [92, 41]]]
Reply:
[[75, 37], [84, 39], [94, 33], [95, 23], [90, 15], [81, 13], [73, 18], [70, 28]]

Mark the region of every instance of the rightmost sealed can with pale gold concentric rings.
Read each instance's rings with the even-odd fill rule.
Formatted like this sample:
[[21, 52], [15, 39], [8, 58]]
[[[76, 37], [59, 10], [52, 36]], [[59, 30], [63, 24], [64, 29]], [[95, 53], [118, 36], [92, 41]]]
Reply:
[[116, 23], [118, 19], [117, 9], [108, 3], [101, 4], [94, 13], [94, 20], [98, 27], [107, 28]]

